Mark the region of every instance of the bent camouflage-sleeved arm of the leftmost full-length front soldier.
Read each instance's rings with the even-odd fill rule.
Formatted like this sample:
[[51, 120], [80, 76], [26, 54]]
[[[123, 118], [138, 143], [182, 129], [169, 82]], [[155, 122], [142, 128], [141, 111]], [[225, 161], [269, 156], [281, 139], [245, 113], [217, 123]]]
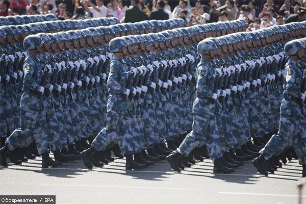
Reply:
[[31, 90], [39, 91], [40, 86], [37, 83], [36, 79], [33, 79], [35, 64], [33, 62], [24, 62], [23, 64], [23, 72], [24, 72], [24, 79], [23, 84], [30, 87]]

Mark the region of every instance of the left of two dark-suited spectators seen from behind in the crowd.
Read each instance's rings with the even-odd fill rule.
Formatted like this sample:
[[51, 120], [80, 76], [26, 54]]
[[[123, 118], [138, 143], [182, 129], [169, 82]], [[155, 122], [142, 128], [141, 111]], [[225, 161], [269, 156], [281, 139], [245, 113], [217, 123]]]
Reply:
[[138, 8], [139, 0], [132, 0], [132, 7], [126, 9], [124, 22], [139, 22], [146, 20], [146, 15]]

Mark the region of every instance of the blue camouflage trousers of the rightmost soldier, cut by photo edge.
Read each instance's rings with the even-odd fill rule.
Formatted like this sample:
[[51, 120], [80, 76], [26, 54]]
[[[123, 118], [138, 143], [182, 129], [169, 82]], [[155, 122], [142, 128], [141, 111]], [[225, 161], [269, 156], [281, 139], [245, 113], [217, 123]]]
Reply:
[[299, 164], [306, 163], [306, 130], [305, 118], [293, 115], [281, 115], [278, 135], [273, 135], [260, 154], [266, 160], [278, 156], [293, 143]]

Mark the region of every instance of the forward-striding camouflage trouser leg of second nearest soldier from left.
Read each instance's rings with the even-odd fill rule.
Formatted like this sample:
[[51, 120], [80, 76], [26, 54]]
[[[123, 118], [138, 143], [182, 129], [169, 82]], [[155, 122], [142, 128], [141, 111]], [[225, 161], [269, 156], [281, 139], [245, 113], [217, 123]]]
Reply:
[[[92, 141], [92, 147], [97, 150], [105, 150], [118, 137], [122, 137], [122, 121], [124, 114], [119, 114], [114, 111], [106, 113], [107, 124]], [[122, 146], [120, 146], [123, 149]]]

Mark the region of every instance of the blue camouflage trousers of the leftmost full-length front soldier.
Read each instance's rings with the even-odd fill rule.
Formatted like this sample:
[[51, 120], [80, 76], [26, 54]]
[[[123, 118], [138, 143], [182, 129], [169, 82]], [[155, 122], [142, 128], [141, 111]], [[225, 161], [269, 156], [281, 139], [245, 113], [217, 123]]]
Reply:
[[10, 135], [5, 144], [13, 150], [16, 147], [27, 147], [34, 140], [41, 155], [48, 148], [47, 129], [43, 111], [20, 108], [20, 128]]

